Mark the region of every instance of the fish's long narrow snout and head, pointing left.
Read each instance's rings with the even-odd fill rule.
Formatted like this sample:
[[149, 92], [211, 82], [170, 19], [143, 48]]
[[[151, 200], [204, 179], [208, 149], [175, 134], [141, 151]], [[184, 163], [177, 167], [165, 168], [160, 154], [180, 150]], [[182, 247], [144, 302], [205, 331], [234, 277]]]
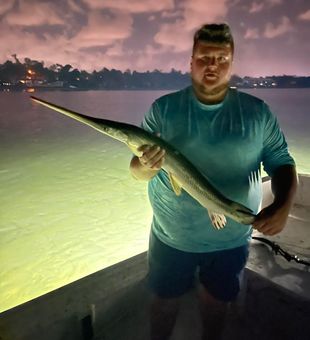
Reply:
[[73, 118], [75, 120], [78, 120], [79, 122], [86, 124], [93, 129], [104, 133], [105, 135], [108, 135], [114, 139], [119, 140], [120, 142], [126, 143], [127, 142], [127, 135], [121, 131], [121, 129], [117, 128], [116, 122], [109, 121], [106, 119], [100, 119], [95, 117], [89, 117], [86, 115], [83, 115], [78, 112], [74, 112], [72, 110], [66, 109], [65, 107], [50, 103], [46, 100], [30, 96], [30, 98], [35, 101], [36, 103], [39, 103], [43, 106], [46, 106], [54, 111], [60, 112], [70, 118]]

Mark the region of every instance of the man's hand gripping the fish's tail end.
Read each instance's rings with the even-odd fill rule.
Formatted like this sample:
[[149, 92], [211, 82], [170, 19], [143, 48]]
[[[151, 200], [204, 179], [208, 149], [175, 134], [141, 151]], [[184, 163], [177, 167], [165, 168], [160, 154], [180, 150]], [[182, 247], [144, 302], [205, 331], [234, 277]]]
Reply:
[[277, 207], [275, 203], [261, 210], [256, 216], [253, 228], [264, 235], [276, 235], [280, 233], [287, 222], [290, 207]]

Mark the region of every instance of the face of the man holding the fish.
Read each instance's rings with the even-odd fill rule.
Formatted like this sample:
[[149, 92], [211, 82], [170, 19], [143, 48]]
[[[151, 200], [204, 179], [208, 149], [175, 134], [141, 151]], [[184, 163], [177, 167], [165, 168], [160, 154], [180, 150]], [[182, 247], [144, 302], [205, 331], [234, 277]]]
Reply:
[[228, 84], [231, 77], [232, 49], [229, 44], [199, 41], [191, 60], [193, 85], [202, 92], [215, 91]]

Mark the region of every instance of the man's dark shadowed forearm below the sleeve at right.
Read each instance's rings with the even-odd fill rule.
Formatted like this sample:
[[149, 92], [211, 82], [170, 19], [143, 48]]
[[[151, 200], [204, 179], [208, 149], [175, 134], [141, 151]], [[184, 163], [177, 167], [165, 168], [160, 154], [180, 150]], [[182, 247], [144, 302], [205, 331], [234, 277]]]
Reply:
[[276, 169], [271, 178], [274, 204], [290, 208], [297, 189], [297, 173], [294, 165], [283, 165]]

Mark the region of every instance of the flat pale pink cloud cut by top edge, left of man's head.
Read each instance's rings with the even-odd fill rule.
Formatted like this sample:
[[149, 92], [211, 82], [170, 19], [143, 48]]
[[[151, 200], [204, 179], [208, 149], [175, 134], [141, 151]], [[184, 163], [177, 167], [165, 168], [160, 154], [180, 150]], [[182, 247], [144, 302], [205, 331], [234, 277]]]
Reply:
[[86, 0], [85, 2], [93, 9], [110, 8], [128, 13], [159, 12], [174, 8], [173, 0]]

